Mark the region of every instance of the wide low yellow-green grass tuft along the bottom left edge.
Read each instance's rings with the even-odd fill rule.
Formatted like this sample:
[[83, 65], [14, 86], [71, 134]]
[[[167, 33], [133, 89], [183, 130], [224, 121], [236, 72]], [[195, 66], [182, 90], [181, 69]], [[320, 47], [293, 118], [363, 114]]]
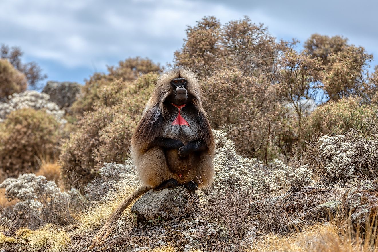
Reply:
[[65, 252], [71, 244], [66, 232], [56, 230], [51, 225], [38, 230], [19, 229], [16, 237], [23, 251], [30, 252]]

